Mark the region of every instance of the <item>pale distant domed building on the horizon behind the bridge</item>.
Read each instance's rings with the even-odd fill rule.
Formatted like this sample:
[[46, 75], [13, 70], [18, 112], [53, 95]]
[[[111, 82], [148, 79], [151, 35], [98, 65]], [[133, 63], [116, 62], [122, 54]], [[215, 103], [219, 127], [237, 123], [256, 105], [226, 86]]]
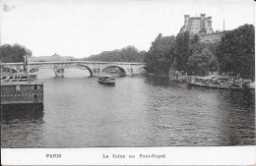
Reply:
[[54, 54], [52, 56], [39, 56], [39, 57], [29, 57], [30, 62], [57, 62], [57, 61], [73, 61], [74, 57], [72, 56], [60, 56], [58, 54]]

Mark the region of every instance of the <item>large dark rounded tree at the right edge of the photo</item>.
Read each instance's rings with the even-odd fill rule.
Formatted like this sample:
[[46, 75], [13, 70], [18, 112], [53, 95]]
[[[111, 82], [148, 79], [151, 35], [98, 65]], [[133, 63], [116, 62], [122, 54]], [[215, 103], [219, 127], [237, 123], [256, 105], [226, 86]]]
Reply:
[[223, 72], [240, 74], [242, 78], [255, 80], [255, 28], [244, 25], [224, 32], [217, 47], [217, 58]]

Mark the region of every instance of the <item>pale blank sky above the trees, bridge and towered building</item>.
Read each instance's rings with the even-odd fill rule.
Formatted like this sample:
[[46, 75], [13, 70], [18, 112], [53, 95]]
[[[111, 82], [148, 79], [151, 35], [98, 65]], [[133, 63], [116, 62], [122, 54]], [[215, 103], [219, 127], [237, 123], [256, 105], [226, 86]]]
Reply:
[[[1, 44], [32, 56], [89, 57], [128, 45], [148, 51], [176, 35], [184, 15], [212, 17], [214, 30], [254, 25], [253, 0], [1, 0]], [[224, 24], [225, 23], [225, 24]]]

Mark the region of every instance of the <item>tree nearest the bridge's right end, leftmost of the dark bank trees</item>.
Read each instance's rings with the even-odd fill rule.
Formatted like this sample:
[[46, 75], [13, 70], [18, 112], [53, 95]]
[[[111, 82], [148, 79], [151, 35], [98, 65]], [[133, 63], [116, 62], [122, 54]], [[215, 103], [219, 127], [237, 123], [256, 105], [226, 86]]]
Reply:
[[147, 72], [156, 75], [168, 74], [171, 63], [171, 46], [174, 43], [174, 36], [162, 37], [161, 33], [158, 35], [145, 57]]

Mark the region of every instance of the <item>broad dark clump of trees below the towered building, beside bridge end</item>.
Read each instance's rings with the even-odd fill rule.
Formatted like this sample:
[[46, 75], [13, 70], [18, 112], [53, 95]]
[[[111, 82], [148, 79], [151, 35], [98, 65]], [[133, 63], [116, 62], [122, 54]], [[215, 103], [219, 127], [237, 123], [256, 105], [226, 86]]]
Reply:
[[176, 38], [160, 34], [145, 58], [147, 72], [166, 75], [171, 70], [204, 76], [216, 70], [218, 62], [213, 53], [216, 46], [198, 40], [197, 35], [190, 39], [187, 31], [178, 33]]

